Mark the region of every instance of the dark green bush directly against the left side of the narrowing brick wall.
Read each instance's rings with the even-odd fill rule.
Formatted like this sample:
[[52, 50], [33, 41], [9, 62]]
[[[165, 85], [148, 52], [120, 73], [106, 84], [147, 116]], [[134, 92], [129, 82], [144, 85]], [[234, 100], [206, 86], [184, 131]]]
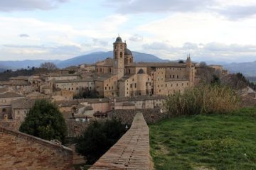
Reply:
[[77, 139], [75, 150], [87, 159], [87, 164], [93, 164], [124, 135], [124, 132], [124, 125], [117, 120], [95, 120]]

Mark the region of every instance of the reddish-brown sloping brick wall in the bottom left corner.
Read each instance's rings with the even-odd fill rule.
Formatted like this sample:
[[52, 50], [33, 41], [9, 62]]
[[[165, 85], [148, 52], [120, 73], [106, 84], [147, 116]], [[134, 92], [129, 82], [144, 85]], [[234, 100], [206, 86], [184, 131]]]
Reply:
[[0, 169], [73, 169], [68, 147], [1, 127], [0, 139]]

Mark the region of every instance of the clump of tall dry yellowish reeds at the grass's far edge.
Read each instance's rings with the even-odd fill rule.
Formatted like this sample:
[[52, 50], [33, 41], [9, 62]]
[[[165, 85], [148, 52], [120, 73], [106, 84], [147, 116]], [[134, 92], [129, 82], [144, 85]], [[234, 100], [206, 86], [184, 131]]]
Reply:
[[227, 86], [206, 85], [176, 92], [166, 100], [169, 115], [230, 113], [238, 108], [238, 96]]

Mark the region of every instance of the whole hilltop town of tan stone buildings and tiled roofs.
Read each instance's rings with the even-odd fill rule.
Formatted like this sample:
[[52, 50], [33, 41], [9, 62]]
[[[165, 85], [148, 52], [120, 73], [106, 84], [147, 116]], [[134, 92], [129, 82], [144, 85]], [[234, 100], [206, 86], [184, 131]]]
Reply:
[[[219, 65], [209, 67], [228, 74]], [[186, 62], [133, 62], [127, 43], [117, 37], [113, 57], [101, 62], [1, 81], [0, 118], [22, 121], [38, 98], [55, 102], [65, 118], [90, 119], [116, 109], [155, 108], [165, 96], [198, 84], [200, 70], [190, 56]], [[85, 98], [75, 99], [82, 94]]]

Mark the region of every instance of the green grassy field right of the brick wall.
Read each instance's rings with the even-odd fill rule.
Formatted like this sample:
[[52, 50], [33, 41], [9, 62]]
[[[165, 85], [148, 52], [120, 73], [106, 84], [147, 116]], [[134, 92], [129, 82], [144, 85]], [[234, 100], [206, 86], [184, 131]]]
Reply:
[[149, 128], [155, 169], [256, 170], [256, 108], [181, 116]]

